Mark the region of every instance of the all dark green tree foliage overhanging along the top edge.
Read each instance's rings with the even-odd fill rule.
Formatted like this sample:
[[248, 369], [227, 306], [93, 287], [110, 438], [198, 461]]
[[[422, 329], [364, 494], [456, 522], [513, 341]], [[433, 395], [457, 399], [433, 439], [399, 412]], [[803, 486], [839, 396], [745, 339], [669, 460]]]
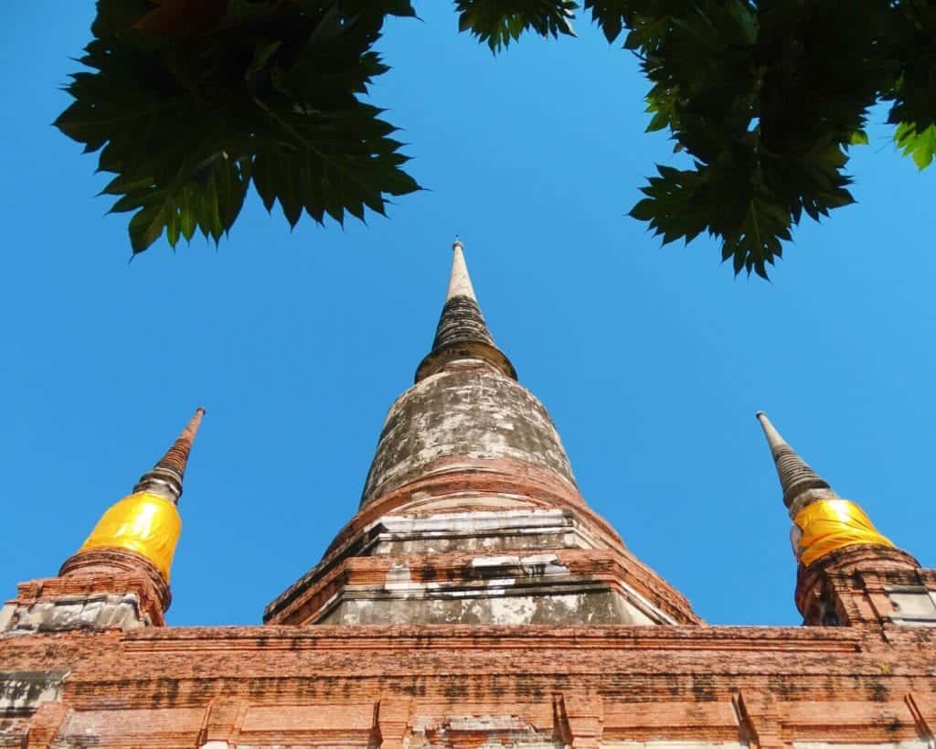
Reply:
[[[885, 102], [899, 150], [936, 154], [936, 6], [928, 0], [456, 0], [459, 27], [504, 50], [573, 36], [584, 12], [640, 59], [648, 130], [688, 168], [658, 167], [631, 215], [663, 242], [702, 232], [735, 272], [767, 276], [806, 213], [854, 202], [849, 149]], [[99, 0], [94, 40], [56, 122], [100, 150], [132, 211], [135, 252], [231, 227], [253, 181], [295, 224], [418, 189], [381, 111], [373, 44], [409, 0]]]

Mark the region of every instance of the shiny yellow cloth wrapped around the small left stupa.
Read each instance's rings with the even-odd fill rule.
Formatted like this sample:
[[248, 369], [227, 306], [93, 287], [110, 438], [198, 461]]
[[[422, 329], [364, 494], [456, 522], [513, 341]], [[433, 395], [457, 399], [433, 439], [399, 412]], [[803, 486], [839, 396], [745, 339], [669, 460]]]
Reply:
[[87, 549], [128, 549], [149, 559], [168, 582], [182, 518], [168, 499], [139, 492], [124, 497], [97, 521], [81, 544]]

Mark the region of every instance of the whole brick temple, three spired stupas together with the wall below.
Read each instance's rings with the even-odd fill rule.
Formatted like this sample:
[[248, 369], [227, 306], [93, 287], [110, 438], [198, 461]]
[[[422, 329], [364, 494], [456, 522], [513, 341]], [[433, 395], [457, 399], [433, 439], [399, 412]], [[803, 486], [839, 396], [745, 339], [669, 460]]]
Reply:
[[803, 626], [706, 624], [582, 496], [461, 242], [357, 509], [263, 624], [165, 620], [201, 416], [56, 577], [0, 609], [0, 747], [936, 746], [936, 570], [761, 413]]

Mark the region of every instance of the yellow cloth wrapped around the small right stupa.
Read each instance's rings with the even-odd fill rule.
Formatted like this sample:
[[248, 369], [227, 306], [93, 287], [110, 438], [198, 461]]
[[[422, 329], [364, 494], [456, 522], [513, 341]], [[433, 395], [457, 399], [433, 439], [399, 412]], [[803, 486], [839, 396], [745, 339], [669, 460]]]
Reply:
[[861, 507], [847, 499], [820, 499], [799, 510], [793, 521], [793, 547], [804, 565], [812, 565], [819, 557], [844, 546], [894, 545], [878, 533]]

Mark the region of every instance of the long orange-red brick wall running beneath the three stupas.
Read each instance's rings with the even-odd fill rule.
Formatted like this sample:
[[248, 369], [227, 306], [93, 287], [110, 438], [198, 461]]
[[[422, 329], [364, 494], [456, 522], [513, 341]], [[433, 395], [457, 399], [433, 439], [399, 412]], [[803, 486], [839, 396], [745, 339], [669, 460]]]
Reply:
[[60, 702], [0, 718], [0, 746], [930, 740], [934, 639], [917, 629], [885, 640], [880, 627], [426, 625], [3, 638], [4, 670], [67, 676]]

